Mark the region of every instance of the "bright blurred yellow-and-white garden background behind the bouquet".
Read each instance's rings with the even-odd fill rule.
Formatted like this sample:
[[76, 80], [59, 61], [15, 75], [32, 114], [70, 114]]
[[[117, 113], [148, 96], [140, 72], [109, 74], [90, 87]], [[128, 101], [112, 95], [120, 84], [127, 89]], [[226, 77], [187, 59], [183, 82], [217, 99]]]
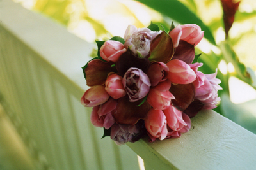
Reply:
[[[150, 22], [154, 22], [168, 28], [172, 22], [172, 19], [163, 15], [161, 11], [132, 0], [15, 0], [15, 2], [64, 25], [69, 32], [90, 43], [94, 43], [96, 39], [107, 40], [112, 36], [124, 37], [125, 29], [129, 24], [147, 27]], [[222, 105], [216, 111], [244, 127], [246, 123], [239, 122], [237, 117], [250, 114], [248, 121], [255, 121], [255, 125], [246, 128], [256, 132], [256, 111], [252, 109], [256, 104], [256, 1], [241, 0], [229, 32], [228, 43], [232, 46], [231, 49], [223, 46], [225, 31], [220, 0], [180, 0], [180, 2], [209, 27], [216, 41], [216, 45], [212, 45], [204, 38], [196, 46], [196, 52], [203, 53], [200, 62], [204, 62], [204, 73], [214, 73], [213, 68], [216, 67], [219, 70], [218, 78], [221, 79], [223, 87], [223, 91], [220, 92]], [[173, 21], [175, 25], [179, 24]], [[233, 62], [227, 59], [228, 54], [233, 55]], [[243, 77], [243, 71], [247, 71], [247, 76]], [[235, 106], [246, 108], [239, 110], [235, 109]]]

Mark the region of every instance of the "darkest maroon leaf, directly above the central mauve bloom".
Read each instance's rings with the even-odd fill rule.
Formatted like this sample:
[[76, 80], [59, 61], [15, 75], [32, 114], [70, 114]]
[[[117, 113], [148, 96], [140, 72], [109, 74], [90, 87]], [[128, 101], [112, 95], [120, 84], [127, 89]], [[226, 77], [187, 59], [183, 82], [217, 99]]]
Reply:
[[149, 60], [145, 58], [138, 58], [131, 53], [131, 50], [127, 50], [123, 53], [116, 62], [116, 69], [120, 76], [124, 76], [126, 71], [131, 67], [141, 69], [144, 73], [147, 73], [149, 67]]

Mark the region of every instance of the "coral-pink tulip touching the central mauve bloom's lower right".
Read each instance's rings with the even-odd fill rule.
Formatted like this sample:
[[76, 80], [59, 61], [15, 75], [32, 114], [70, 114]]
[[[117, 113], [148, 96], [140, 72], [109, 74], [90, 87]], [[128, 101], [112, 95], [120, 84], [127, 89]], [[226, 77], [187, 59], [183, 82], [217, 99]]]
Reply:
[[170, 106], [171, 100], [175, 99], [173, 94], [169, 91], [171, 84], [170, 81], [166, 80], [149, 90], [147, 102], [154, 109], [164, 110]]

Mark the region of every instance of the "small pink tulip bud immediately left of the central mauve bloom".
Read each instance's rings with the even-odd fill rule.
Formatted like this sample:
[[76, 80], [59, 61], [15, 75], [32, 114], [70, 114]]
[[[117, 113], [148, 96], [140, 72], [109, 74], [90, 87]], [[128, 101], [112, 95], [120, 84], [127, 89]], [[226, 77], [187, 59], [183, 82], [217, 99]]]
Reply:
[[119, 99], [126, 95], [124, 85], [122, 83], [122, 76], [111, 74], [108, 76], [105, 85], [105, 90], [108, 92], [109, 96], [113, 97], [113, 99]]

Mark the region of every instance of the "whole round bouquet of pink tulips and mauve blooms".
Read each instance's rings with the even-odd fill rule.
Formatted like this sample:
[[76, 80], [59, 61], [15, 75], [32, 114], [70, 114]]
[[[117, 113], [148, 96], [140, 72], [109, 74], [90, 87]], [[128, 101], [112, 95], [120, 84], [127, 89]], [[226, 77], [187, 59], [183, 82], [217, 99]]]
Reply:
[[203, 36], [195, 24], [172, 24], [168, 33], [154, 24], [129, 25], [124, 39], [97, 41], [98, 57], [83, 67], [90, 89], [81, 98], [93, 107], [92, 124], [104, 127], [104, 136], [118, 145], [188, 132], [191, 117], [220, 101], [217, 71], [204, 74], [194, 61]]

